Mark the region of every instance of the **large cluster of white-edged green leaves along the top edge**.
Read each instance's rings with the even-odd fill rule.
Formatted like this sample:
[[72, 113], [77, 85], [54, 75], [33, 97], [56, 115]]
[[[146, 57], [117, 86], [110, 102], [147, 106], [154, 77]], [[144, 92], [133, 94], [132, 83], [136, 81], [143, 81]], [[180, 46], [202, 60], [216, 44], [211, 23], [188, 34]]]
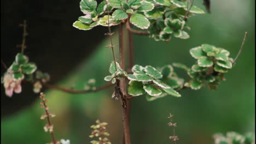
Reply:
[[188, 11], [189, 6], [187, 2], [175, 0], [107, 0], [99, 5], [94, 0], [82, 0], [80, 9], [85, 16], [80, 16], [73, 26], [89, 30], [98, 25], [119, 25], [121, 20], [128, 19], [137, 28], [148, 29], [150, 37], [157, 41], [168, 41], [171, 37], [188, 39], [189, 34], [184, 31], [189, 29], [185, 18], [204, 13], [194, 5]]

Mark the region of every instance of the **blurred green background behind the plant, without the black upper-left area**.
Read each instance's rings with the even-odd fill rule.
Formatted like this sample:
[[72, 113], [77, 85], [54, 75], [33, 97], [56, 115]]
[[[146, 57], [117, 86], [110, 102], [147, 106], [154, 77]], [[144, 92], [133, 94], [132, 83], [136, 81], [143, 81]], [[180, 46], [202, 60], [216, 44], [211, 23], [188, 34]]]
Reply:
[[[202, 1], [195, 1], [194, 4], [205, 9]], [[186, 89], [181, 92], [181, 98], [167, 96], [152, 102], [147, 102], [144, 96], [133, 99], [130, 124], [132, 143], [171, 143], [168, 136], [172, 129], [167, 127], [169, 113], [174, 115], [173, 120], [178, 123], [178, 143], [213, 143], [212, 135], [218, 131], [255, 131], [254, 4], [254, 0], [212, 1], [211, 14], [189, 19], [191, 31], [188, 40], [173, 38], [164, 43], [145, 36], [134, 36], [135, 63], [157, 67], [173, 62], [193, 64], [195, 59], [189, 55], [189, 49], [203, 43], [223, 47], [235, 58], [243, 35], [248, 31], [240, 58], [216, 91], [207, 88], [199, 91]], [[74, 29], [71, 25], [69, 28]], [[116, 34], [115, 44], [118, 44], [117, 38]], [[103, 77], [108, 74], [112, 61], [111, 52], [105, 47], [107, 44], [109, 39], [106, 37], [89, 58], [79, 63], [56, 85], [82, 89], [85, 81], [95, 78], [97, 85], [102, 86], [105, 83]], [[185, 76], [182, 71], [181, 74]], [[107, 128], [112, 143], [121, 143], [121, 107], [119, 101], [110, 98], [112, 90], [90, 94], [45, 91], [50, 112], [56, 114], [52, 121], [57, 139], [69, 139], [72, 144], [89, 143], [89, 127], [100, 119], [109, 124]], [[1, 118], [1, 143], [50, 142], [50, 135], [43, 130], [45, 121], [39, 119], [43, 113], [39, 103], [37, 99], [15, 115]]]

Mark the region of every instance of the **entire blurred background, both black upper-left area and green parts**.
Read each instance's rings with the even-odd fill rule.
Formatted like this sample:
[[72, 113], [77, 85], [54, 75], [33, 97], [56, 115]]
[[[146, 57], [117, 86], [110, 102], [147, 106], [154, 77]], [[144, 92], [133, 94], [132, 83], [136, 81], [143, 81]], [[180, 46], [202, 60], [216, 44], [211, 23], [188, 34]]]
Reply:
[[[205, 9], [201, 0], [194, 4]], [[254, 5], [253, 0], [212, 1], [211, 14], [189, 19], [188, 40], [173, 38], [164, 43], [134, 35], [136, 64], [191, 65], [195, 59], [189, 55], [189, 49], [203, 43], [223, 47], [234, 58], [248, 31], [241, 57], [216, 91], [186, 89], [181, 92], [181, 98], [167, 96], [152, 102], [147, 102], [144, 96], [133, 99], [132, 143], [171, 143], [168, 136], [172, 129], [167, 127], [169, 113], [178, 123], [178, 143], [213, 143], [212, 135], [218, 131], [255, 131]], [[20, 51], [15, 47], [21, 42], [22, 28], [18, 24], [26, 19], [29, 35], [25, 53], [38, 63], [40, 70], [51, 74], [52, 83], [82, 89], [85, 81], [95, 78], [98, 86], [103, 85], [112, 61], [110, 50], [105, 47], [109, 43], [104, 35], [107, 28], [79, 31], [72, 27], [72, 22], [80, 15], [79, 0], [1, 1], [2, 60], [9, 66]], [[114, 38], [118, 44], [117, 34]], [[43, 113], [39, 95], [33, 94], [32, 86], [24, 86], [22, 94], [13, 98], [7, 98], [3, 90], [1, 86], [1, 143], [50, 142], [50, 135], [43, 130], [45, 121], [39, 119]], [[112, 91], [110, 88], [97, 93], [68, 94], [44, 89], [50, 112], [56, 114], [52, 122], [57, 139], [69, 139], [72, 144], [89, 143], [90, 125], [100, 119], [109, 124], [112, 143], [121, 143], [121, 107], [119, 101], [110, 98]]]

